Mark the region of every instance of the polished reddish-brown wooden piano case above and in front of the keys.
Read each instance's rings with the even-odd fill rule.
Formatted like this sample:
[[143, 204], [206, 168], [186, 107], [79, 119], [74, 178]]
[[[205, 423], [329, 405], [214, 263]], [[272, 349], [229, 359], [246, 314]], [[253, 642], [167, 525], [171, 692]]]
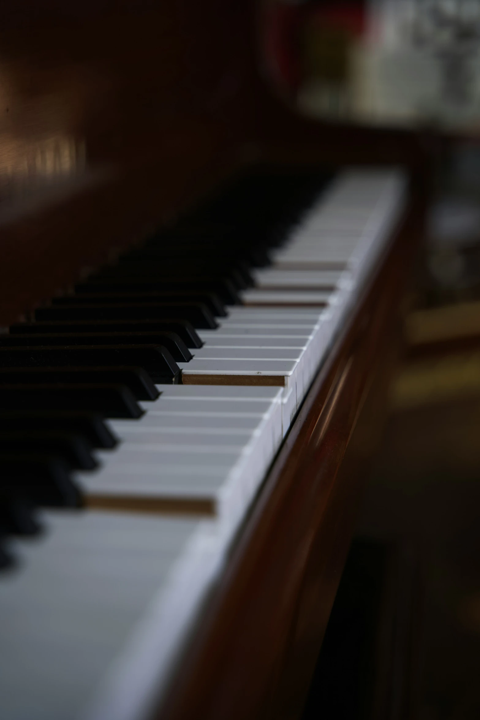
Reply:
[[[158, 703], [158, 717], [169, 720], [298, 717], [384, 418], [420, 237], [425, 152], [406, 132], [298, 117], [264, 77], [253, 1], [17, 0], [2, 2], [1, 13], [0, 325], [245, 165], [402, 163], [411, 171], [399, 230], [314, 380]], [[29, 158], [65, 147], [70, 164], [37, 192]], [[40, 181], [48, 175], [48, 159], [41, 162]]]

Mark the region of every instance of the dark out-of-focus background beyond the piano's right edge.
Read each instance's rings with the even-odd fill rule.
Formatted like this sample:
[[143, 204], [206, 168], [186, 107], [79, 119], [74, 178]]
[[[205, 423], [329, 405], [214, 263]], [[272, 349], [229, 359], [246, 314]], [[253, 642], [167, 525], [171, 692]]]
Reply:
[[342, 126], [409, 129], [428, 158], [422, 248], [389, 419], [304, 716], [473, 720], [480, 717], [480, 3], [267, 0], [263, 21], [264, 73], [296, 112]]

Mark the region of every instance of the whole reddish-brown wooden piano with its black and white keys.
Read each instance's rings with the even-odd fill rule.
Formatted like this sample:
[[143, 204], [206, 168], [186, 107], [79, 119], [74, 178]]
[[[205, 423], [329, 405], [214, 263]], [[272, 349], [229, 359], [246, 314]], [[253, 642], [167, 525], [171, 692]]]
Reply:
[[253, 1], [2, 15], [1, 718], [300, 717], [425, 144], [298, 117]]

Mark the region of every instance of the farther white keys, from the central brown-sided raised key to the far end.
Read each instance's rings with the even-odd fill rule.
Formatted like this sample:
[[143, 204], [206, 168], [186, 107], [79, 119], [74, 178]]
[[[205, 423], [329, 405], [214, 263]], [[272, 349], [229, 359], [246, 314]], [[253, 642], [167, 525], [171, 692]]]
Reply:
[[398, 171], [340, 176], [273, 253], [273, 266], [256, 271], [244, 307], [230, 308], [217, 330], [200, 332], [204, 347], [179, 364], [182, 382], [284, 385], [285, 428], [389, 238], [403, 194]]

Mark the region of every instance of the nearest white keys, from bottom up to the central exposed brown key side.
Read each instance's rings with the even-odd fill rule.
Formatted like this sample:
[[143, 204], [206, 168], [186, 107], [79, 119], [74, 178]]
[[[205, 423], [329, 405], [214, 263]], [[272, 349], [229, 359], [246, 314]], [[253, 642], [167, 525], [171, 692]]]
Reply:
[[[122, 442], [104, 467], [76, 477], [87, 503], [142, 497], [153, 513], [42, 513], [45, 536], [12, 542], [2, 720], [148, 716], [279, 447], [279, 389], [158, 387], [140, 420], [109, 421]], [[155, 513], [155, 499], [192, 495], [215, 503], [215, 521]]]

